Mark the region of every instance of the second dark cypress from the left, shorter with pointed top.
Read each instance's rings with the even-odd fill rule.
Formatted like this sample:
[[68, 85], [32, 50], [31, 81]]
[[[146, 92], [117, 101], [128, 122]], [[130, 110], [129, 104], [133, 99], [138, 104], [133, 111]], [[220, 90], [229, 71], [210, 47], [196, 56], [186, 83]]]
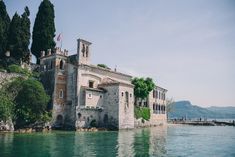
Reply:
[[11, 52], [11, 58], [14, 58], [15, 63], [18, 64], [23, 56], [21, 39], [21, 18], [15, 13], [9, 27], [7, 49]]

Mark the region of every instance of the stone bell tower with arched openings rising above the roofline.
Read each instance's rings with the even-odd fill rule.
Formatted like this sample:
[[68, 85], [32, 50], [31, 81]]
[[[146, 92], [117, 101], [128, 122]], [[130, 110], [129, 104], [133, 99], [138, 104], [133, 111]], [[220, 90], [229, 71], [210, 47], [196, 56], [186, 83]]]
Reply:
[[90, 58], [91, 58], [91, 51], [90, 51], [90, 45], [91, 43], [89, 41], [78, 39], [78, 47], [77, 47], [77, 53], [78, 53], [78, 63], [79, 64], [90, 64]]

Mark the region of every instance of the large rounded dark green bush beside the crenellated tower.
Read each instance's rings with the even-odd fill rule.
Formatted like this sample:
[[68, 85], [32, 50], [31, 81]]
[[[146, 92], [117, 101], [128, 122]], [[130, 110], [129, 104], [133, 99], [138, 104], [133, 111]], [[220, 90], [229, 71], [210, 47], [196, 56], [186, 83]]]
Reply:
[[28, 79], [21, 82], [21, 89], [15, 97], [16, 126], [24, 126], [36, 121], [45, 120], [49, 96], [42, 84]]

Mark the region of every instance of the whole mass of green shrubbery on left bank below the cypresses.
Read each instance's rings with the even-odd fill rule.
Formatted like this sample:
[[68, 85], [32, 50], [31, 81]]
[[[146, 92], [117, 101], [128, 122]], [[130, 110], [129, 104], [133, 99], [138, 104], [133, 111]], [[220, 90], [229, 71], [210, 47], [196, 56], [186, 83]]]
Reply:
[[36, 79], [19, 77], [5, 83], [0, 99], [0, 120], [12, 119], [16, 128], [50, 118], [47, 112], [50, 98]]

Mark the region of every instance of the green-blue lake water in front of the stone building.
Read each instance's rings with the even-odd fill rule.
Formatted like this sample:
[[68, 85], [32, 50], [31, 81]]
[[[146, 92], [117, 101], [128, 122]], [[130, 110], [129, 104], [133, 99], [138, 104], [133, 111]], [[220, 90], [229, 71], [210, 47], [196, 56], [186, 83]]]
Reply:
[[235, 157], [235, 127], [168, 126], [123, 131], [0, 133], [0, 157]]

